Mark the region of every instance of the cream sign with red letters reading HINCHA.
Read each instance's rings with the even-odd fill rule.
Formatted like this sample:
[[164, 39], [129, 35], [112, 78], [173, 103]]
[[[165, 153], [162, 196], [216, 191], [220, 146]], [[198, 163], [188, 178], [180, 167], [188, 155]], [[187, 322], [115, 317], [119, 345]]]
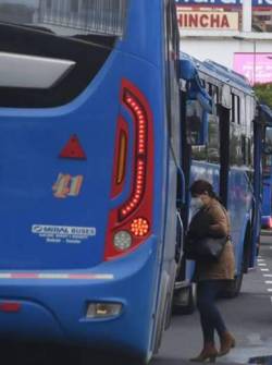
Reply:
[[235, 12], [206, 12], [206, 11], [186, 11], [177, 9], [177, 21], [180, 28], [198, 29], [238, 29], [238, 13]]

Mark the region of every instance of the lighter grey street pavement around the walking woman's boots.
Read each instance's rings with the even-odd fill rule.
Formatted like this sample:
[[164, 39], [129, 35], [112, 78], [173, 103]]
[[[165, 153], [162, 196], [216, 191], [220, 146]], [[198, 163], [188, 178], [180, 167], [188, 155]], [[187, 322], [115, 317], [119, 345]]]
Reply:
[[[244, 276], [239, 296], [218, 303], [237, 345], [217, 363], [248, 364], [250, 358], [272, 355], [272, 233], [265, 232], [261, 242], [257, 268]], [[188, 364], [201, 344], [198, 313], [176, 316], [151, 364]], [[258, 364], [269, 364], [265, 361], [258, 360]]]

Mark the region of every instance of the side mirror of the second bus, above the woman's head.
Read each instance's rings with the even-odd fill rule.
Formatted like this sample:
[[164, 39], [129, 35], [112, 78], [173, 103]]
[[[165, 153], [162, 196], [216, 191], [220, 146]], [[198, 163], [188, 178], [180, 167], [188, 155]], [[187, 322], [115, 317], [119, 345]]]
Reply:
[[198, 100], [186, 101], [186, 130], [189, 145], [200, 146], [208, 143], [208, 111]]

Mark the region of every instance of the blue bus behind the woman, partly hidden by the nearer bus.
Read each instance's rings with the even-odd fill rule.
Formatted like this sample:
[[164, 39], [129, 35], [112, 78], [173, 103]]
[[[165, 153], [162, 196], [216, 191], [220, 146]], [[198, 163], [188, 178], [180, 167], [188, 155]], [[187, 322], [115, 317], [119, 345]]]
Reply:
[[[194, 180], [212, 183], [231, 218], [231, 235], [235, 250], [235, 280], [222, 295], [236, 296], [243, 276], [256, 263], [261, 220], [261, 156], [265, 129], [271, 113], [259, 105], [251, 86], [239, 74], [213, 62], [200, 62], [181, 56], [181, 69], [186, 82], [182, 92], [182, 109], [186, 115], [189, 98], [198, 100], [200, 113], [208, 118], [207, 144], [191, 145], [191, 124], [183, 126], [183, 171], [187, 192], [183, 218], [185, 229], [190, 219], [188, 187]], [[189, 72], [188, 72], [189, 70]], [[196, 93], [201, 90], [201, 97]], [[212, 108], [207, 108], [206, 95]], [[202, 111], [201, 111], [202, 110]], [[269, 134], [269, 133], [268, 133]], [[269, 141], [267, 141], [269, 144]], [[182, 313], [191, 313], [195, 291], [191, 284], [194, 261], [183, 259], [177, 278], [174, 303]]]

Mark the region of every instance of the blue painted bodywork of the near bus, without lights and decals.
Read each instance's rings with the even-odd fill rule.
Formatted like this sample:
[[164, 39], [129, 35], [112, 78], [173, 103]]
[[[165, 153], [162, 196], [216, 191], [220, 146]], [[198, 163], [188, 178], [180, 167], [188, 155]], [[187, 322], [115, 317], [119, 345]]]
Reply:
[[[23, 304], [16, 315], [0, 313], [0, 334], [9, 329], [13, 338], [113, 346], [145, 358], [153, 351], [161, 278], [173, 281], [175, 275], [177, 170], [165, 118], [163, 22], [162, 1], [129, 1], [123, 40], [75, 100], [52, 109], [0, 109], [0, 303], [12, 300]], [[109, 211], [128, 198], [132, 182], [129, 147], [124, 191], [111, 199], [120, 112], [133, 135], [132, 115], [120, 102], [123, 78], [145, 95], [153, 117], [152, 235], [134, 253], [104, 261]], [[86, 160], [59, 158], [73, 134], [78, 136]], [[84, 177], [78, 197], [53, 196], [59, 173]], [[76, 245], [52, 244], [32, 233], [33, 224], [94, 227], [96, 235]], [[110, 273], [114, 279], [4, 279], [10, 271]], [[123, 313], [113, 319], [86, 319], [87, 303], [92, 301], [121, 302]]]

